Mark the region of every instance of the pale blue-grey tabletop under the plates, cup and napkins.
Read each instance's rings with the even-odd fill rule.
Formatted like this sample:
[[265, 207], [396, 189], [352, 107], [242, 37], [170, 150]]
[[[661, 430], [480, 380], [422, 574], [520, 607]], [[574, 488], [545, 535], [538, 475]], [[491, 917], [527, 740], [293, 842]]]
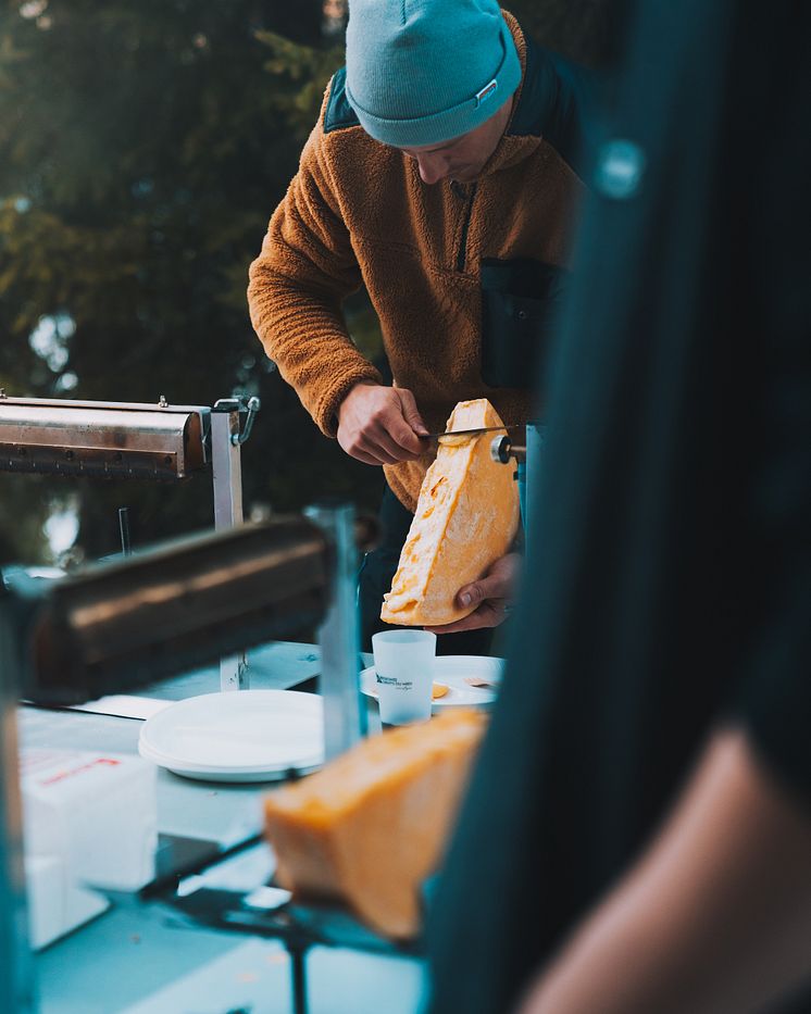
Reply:
[[[364, 659], [365, 662], [365, 659]], [[319, 668], [312, 644], [275, 642], [249, 653], [251, 686], [308, 685]], [[217, 667], [149, 687], [147, 697], [178, 700], [220, 687]], [[137, 752], [140, 722], [75, 711], [22, 708], [24, 746]], [[158, 826], [234, 849], [261, 830], [267, 786], [190, 781], [161, 771]], [[264, 844], [219, 860], [199, 876], [248, 890], [264, 882], [273, 856]], [[290, 974], [276, 941], [191, 924], [166, 905], [117, 899], [111, 911], [36, 957], [42, 1014], [288, 1014]], [[413, 1014], [423, 988], [421, 963], [346, 950], [315, 950], [308, 962], [313, 1014]]]

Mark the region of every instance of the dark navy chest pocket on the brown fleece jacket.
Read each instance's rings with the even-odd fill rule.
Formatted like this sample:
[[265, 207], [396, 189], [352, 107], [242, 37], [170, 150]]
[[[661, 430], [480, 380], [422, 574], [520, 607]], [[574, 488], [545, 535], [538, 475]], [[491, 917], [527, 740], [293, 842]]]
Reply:
[[569, 272], [529, 258], [482, 261], [482, 379], [527, 390], [546, 361]]

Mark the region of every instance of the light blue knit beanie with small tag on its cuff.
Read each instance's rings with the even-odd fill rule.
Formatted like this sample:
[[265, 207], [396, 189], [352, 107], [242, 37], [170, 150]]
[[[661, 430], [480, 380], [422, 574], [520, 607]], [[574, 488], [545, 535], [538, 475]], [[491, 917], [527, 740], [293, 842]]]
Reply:
[[384, 145], [439, 145], [489, 120], [521, 84], [495, 0], [349, 0], [347, 99]]

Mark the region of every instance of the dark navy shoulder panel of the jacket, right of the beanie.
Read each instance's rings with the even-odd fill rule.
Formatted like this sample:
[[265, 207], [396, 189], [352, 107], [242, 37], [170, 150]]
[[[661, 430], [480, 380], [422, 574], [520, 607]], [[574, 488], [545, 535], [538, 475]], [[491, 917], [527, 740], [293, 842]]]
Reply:
[[586, 67], [544, 49], [528, 35], [526, 70], [509, 133], [542, 137], [581, 176], [589, 164], [599, 80]]

